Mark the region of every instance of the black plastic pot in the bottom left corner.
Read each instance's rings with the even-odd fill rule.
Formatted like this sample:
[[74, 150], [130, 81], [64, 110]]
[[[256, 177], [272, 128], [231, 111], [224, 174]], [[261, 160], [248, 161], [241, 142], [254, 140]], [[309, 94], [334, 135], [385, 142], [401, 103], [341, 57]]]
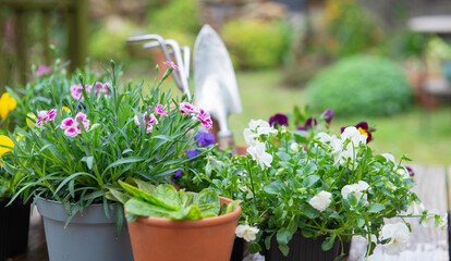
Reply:
[[25, 252], [28, 246], [29, 203], [0, 198], [0, 261]]

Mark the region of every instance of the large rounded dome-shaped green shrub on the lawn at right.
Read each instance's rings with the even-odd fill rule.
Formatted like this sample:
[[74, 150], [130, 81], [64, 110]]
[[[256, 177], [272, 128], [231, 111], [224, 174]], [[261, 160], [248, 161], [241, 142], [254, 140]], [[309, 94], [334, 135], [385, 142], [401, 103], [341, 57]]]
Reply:
[[394, 62], [376, 57], [345, 58], [321, 71], [308, 85], [313, 109], [339, 115], [390, 115], [412, 104], [412, 89]]

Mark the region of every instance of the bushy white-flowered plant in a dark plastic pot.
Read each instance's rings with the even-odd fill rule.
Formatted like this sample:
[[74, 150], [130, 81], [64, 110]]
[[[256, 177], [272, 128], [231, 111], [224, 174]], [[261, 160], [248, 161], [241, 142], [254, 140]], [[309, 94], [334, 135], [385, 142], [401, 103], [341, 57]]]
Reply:
[[[411, 191], [406, 156], [395, 161], [374, 153], [366, 123], [331, 135], [331, 116], [306, 119], [296, 130], [251, 121], [247, 156], [212, 169], [210, 189], [242, 200], [236, 235], [252, 241], [251, 252], [266, 260], [333, 260], [343, 256], [340, 241], [359, 235], [368, 238], [367, 256], [376, 244], [394, 253], [409, 238], [404, 217], [446, 226], [446, 217], [425, 210]], [[386, 224], [393, 217], [404, 222]]]

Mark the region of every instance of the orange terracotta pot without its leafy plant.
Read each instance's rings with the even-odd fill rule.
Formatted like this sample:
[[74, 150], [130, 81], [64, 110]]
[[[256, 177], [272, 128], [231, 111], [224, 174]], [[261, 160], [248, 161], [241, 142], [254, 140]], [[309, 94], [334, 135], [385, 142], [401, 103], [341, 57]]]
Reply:
[[226, 215], [194, 221], [141, 216], [129, 222], [134, 260], [229, 261], [240, 214], [237, 207]]

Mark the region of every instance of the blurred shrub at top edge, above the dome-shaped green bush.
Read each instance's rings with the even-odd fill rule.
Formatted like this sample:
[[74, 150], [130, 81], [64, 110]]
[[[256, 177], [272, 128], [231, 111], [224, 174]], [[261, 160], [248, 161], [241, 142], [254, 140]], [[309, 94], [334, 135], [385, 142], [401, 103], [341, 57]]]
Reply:
[[328, 33], [324, 48], [332, 57], [365, 51], [383, 39], [376, 18], [357, 0], [328, 0], [324, 22]]

